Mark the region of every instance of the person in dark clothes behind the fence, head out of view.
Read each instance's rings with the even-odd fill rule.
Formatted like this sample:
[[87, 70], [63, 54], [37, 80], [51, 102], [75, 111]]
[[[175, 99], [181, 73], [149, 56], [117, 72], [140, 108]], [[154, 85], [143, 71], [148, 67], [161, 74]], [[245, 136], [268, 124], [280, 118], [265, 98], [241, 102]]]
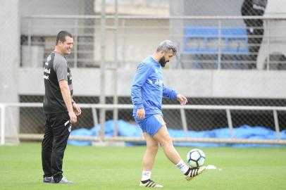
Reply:
[[[241, 13], [244, 16], [262, 16], [265, 12], [267, 0], [244, 0]], [[256, 58], [259, 53], [260, 45], [263, 39], [263, 20], [262, 19], [244, 19], [247, 25], [247, 37], [249, 44], [248, 60], [249, 68], [256, 68]]]

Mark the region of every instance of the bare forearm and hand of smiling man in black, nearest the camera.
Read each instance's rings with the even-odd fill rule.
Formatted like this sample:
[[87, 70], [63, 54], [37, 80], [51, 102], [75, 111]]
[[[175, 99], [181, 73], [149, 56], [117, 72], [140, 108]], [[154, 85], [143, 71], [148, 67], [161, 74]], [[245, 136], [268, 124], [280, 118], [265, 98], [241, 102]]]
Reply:
[[70, 88], [68, 87], [68, 81], [60, 80], [58, 82], [61, 89], [61, 96], [63, 96], [63, 101], [65, 101], [66, 108], [68, 108], [68, 115], [70, 115], [70, 122], [77, 122], [77, 116], [73, 112], [72, 99], [70, 96]]

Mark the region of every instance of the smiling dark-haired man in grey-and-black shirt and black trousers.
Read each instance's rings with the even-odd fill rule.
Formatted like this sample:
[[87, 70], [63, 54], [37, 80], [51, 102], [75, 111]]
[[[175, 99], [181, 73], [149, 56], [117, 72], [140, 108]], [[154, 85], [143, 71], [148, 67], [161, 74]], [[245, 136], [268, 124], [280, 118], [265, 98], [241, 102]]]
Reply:
[[73, 101], [72, 75], [66, 58], [73, 48], [73, 37], [61, 31], [56, 46], [44, 63], [44, 113], [46, 116], [42, 141], [43, 182], [70, 184], [63, 176], [63, 154], [70, 135], [72, 123], [81, 114]]

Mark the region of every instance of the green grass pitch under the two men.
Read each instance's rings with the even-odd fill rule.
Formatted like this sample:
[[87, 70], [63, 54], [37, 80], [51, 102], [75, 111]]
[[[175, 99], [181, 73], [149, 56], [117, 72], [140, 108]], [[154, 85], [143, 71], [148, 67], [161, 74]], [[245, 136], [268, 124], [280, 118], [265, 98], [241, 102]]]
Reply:
[[[177, 147], [185, 159], [192, 147]], [[0, 189], [144, 189], [139, 187], [144, 146], [68, 146], [63, 174], [75, 184], [43, 184], [40, 143], [0, 146]], [[285, 189], [286, 147], [201, 148], [206, 170], [187, 182], [165, 158], [157, 155], [152, 179], [164, 189]]]

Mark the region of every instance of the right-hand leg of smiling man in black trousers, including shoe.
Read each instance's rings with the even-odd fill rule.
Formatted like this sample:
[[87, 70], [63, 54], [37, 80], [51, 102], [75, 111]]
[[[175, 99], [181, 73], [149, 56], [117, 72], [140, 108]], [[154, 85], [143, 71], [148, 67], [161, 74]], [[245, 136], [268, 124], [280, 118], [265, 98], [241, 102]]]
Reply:
[[57, 113], [52, 125], [54, 141], [51, 152], [51, 169], [53, 171], [52, 183], [73, 183], [63, 177], [63, 154], [66, 150], [70, 136], [70, 116], [68, 113]]

